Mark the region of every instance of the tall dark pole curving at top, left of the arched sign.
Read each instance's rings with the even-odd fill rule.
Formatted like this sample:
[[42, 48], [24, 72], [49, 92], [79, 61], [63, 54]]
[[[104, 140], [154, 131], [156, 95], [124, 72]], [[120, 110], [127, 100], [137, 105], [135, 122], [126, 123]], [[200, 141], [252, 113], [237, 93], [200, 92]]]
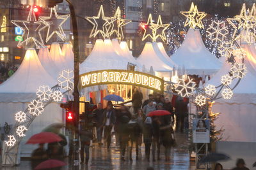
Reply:
[[78, 136], [78, 125], [79, 125], [79, 92], [78, 92], [78, 82], [79, 82], [79, 42], [78, 42], [78, 29], [77, 29], [77, 20], [76, 20], [76, 12], [74, 6], [70, 0], [66, 0], [69, 6], [71, 20], [72, 20], [72, 29], [74, 36], [74, 114], [75, 114], [75, 122], [74, 122], [74, 169], [78, 169], [79, 167], [79, 136]]

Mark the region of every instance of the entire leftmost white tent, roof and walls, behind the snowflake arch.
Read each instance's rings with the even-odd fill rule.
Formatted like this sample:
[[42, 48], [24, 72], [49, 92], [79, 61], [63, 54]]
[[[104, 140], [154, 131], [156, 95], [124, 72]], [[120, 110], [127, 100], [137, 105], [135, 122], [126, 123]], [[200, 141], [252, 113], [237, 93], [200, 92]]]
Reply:
[[[15, 113], [24, 111], [29, 102], [36, 98], [36, 90], [41, 85], [52, 87], [57, 84], [42, 67], [35, 49], [29, 48], [19, 69], [0, 85], [0, 124], [15, 124]], [[50, 103], [42, 115], [30, 125], [20, 144], [22, 156], [29, 157], [35, 145], [24, 145], [33, 134], [41, 132], [47, 125], [63, 122], [63, 113], [58, 103]]]

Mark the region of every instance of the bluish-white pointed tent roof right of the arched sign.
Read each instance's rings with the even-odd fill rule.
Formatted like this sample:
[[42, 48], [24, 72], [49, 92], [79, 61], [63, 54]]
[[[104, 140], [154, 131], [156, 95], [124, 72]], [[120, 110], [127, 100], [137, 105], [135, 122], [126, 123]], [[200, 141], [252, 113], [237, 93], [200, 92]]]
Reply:
[[221, 67], [221, 62], [205, 47], [199, 30], [193, 29], [189, 29], [171, 59], [180, 67], [184, 65], [188, 74], [213, 74]]

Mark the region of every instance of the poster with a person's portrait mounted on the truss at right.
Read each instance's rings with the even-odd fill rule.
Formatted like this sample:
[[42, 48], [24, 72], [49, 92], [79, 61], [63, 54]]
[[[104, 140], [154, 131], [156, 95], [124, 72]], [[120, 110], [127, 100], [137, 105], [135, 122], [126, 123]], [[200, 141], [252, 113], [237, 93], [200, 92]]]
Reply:
[[193, 119], [193, 143], [210, 143], [209, 119]]

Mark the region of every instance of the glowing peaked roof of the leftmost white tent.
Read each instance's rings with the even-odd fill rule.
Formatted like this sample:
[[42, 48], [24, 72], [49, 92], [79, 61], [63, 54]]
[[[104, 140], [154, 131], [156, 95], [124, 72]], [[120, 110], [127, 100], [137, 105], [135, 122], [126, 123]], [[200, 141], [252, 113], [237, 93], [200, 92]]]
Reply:
[[28, 102], [38, 87], [56, 84], [41, 65], [35, 49], [29, 48], [19, 69], [0, 85], [0, 102]]

